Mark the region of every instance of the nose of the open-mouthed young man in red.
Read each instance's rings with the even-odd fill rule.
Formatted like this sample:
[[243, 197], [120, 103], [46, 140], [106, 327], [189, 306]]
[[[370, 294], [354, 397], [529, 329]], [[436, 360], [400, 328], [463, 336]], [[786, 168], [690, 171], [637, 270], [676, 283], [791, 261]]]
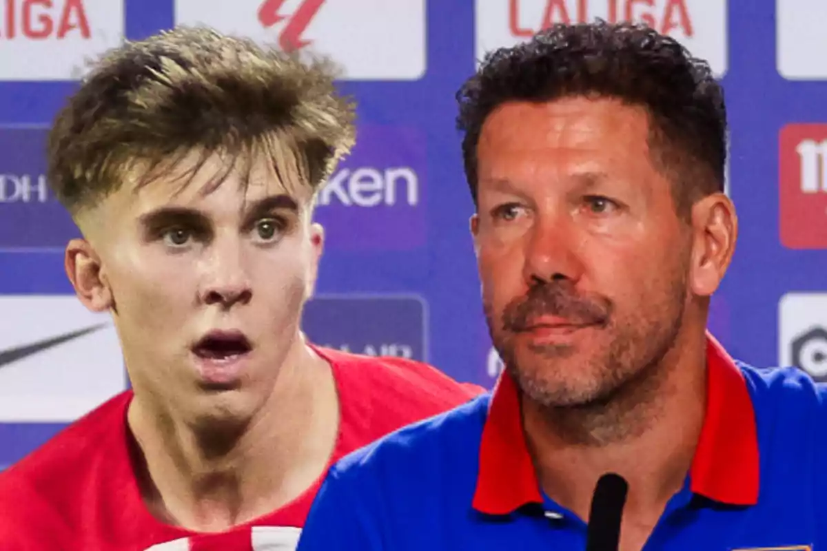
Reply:
[[198, 293], [201, 302], [229, 309], [247, 304], [252, 298], [252, 286], [238, 245], [216, 244], [205, 262], [203, 285]]

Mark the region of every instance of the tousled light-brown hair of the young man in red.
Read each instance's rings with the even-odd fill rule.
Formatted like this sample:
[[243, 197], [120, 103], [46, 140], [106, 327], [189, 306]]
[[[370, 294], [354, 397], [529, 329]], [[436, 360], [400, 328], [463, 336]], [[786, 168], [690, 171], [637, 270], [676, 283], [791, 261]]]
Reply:
[[[315, 191], [355, 141], [355, 109], [323, 56], [178, 27], [110, 50], [55, 119], [48, 181], [73, 215], [136, 170], [149, 181], [200, 151], [266, 154], [281, 180]], [[232, 163], [230, 162], [232, 161]], [[197, 167], [196, 167], [197, 169]]]

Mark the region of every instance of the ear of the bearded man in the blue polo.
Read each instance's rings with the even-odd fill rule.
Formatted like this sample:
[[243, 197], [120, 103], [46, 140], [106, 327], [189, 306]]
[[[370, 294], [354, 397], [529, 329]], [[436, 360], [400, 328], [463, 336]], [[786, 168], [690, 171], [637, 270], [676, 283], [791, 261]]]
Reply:
[[690, 287], [710, 297], [724, 278], [738, 239], [738, 216], [729, 197], [715, 193], [692, 207], [692, 265]]

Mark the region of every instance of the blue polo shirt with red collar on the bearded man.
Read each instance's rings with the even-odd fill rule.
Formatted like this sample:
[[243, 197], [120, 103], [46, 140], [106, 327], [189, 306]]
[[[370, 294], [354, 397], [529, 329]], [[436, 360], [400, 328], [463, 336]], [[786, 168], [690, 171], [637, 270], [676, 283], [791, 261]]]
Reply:
[[[647, 551], [827, 549], [825, 388], [794, 368], [736, 363], [711, 336], [695, 458]], [[544, 495], [516, 385], [343, 458], [299, 551], [585, 549], [586, 524]]]

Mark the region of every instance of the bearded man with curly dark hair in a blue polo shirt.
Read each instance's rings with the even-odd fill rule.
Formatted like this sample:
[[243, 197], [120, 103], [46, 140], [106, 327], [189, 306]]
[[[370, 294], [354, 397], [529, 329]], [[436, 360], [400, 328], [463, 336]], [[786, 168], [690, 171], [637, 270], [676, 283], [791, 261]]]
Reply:
[[646, 26], [561, 25], [458, 97], [506, 371], [332, 468], [299, 549], [827, 545], [825, 388], [706, 333], [738, 234], [709, 66]]

